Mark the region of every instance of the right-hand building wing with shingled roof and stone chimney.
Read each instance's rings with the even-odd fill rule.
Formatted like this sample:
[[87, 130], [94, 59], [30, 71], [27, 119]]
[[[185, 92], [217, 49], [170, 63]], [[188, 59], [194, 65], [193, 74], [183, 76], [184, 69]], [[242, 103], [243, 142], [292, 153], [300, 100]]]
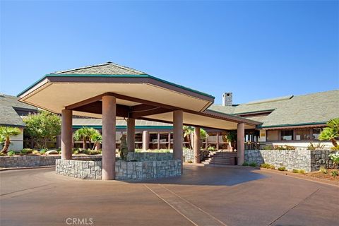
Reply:
[[[288, 95], [241, 105], [232, 104], [232, 93], [225, 93], [223, 98], [223, 105], [212, 105], [209, 109], [260, 121], [262, 124], [254, 134], [262, 145], [307, 148], [309, 143], [320, 143], [319, 134], [328, 120], [339, 117], [339, 90]], [[247, 134], [245, 141], [254, 140]], [[331, 142], [321, 143], [332, 146]]]

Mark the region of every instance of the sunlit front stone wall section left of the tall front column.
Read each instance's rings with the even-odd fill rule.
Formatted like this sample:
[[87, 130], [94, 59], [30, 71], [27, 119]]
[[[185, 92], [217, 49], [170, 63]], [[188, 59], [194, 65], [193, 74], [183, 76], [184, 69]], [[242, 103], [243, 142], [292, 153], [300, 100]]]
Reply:
[[101, 179], [101, 161], [56, 160], [55, 172], [80, 179]]

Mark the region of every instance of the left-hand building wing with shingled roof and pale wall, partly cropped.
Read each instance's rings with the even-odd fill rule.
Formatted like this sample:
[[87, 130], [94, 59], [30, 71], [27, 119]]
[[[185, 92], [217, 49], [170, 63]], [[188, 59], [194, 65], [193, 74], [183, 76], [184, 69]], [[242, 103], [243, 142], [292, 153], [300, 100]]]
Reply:
[[37, 108], [18, 101], [18, 97], [0, 94], [0, 126], [18, 127], [21, 133], [11, 137], [11, 145], [8, 150], [23, 149], [23, 129], [25, 123], [23, 117], [36, 113]]

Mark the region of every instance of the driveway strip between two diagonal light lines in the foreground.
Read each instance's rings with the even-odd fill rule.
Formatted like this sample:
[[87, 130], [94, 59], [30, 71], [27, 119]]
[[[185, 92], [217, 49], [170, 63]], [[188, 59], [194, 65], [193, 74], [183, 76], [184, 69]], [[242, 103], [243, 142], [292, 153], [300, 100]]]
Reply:
[[227, 226], [221, 220], [213, 217], [210, 213], [205, 210], [198, 208], [198, 206], [190, 203], [181, 196], [175, 194], [173, 191], [165, 188], [160, 184], [143, 184], [147, 189], [153, 192], [162, 201], [171, 206], [180, 215], [189, 220], [193, 225], [196, 226]]

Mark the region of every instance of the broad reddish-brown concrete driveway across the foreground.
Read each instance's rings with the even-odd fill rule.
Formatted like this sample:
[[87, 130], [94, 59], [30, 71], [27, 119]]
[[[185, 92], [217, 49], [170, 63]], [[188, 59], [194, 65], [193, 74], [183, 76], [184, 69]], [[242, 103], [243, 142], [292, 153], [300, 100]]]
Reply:
[[0, 225], [338, 225], [339, 188], [247, 167], [85, 181], [54, 169], [0, 172]]

